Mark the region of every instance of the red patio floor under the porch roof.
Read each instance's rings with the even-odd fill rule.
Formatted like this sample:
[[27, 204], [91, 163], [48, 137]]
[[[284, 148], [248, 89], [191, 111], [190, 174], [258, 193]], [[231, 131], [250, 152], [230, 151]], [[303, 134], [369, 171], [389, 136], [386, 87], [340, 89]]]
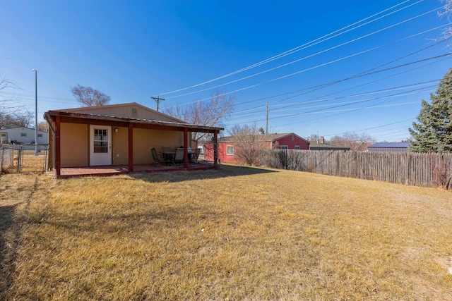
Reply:
[[[133, 165], [133, 173], [157, 173], [164, 171], [196, 171], [213, 169], [213, 163], [208, 161], [199, 161], [199, 164], [184, 166], [161, 166], [150, 164]], [[86, 176], [114, 176], [129, 173], [127, 165], [107, 165], [107, 166], [83, 166], [83, 167], [63, 167], [61, 175], [58, 178], [73, 178]]]

